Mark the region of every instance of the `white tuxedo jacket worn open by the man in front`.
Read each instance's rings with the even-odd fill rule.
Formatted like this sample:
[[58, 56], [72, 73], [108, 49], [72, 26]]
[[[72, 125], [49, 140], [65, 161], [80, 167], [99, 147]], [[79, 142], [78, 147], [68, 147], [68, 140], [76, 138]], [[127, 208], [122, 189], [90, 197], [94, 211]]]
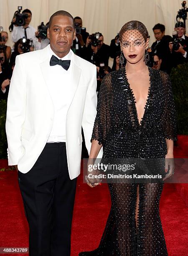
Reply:
[[[91, 134], [96, 116], [96, 67], [79, 56], [72, 56], [71, 101], [66, 114], [66, 154], [70, 179], [80, 173], [81, 126], [86, 148], [91, 148]], [[10, 82], [6, 133], [8, 164], [20, 172], [30, 171], [41, 154], [51, 132], [54, 107], [50, 96], [48, 47], [21, 54]], [[69, 86], [69, 84], [67, 84]], [[102, 157], [102, 150], [99, 153]]]

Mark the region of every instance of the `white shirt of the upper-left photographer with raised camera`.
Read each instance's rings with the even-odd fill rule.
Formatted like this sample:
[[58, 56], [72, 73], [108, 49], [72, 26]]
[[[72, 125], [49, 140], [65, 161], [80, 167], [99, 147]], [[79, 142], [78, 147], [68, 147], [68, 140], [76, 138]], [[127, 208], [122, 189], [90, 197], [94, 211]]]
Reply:
[[[32, 26], [28, 26], [26, 28], [26, 34], [28, 39], [33, 40], [33, 46], [35, 50], [41, 49], [41, 43], [38, 42], [38, 38], [35, 36], [36, 29], [33, 28]], [[13, 31], [11, 32], [12, 36], [12, 41], [16, 43], [20, 38], [23, 38], [25, 36], [25, 29], [23, 26], [15, 26], [13, 27]]]

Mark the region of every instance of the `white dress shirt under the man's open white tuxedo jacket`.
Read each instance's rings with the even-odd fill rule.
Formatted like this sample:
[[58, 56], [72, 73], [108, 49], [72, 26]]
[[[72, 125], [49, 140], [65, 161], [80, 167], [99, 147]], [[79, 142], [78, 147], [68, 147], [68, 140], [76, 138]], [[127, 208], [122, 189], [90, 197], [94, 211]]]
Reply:
[[[54, 55], [60, 59], [48, 45], [49, 62], [51, 56]], [[71, 60], [71, 51], [61, 60]], [[50, 67], [50, 81], [51, 88], [49, 92], [54, 106], [54, 119], [48, 143], [52, 142], [66, 142], [66, 113], [69, 108], [69, 100], [71, 94], [71, 84], [69, 83], [72, 70], [72, 61], [68, 70], [65, 70], [60, 65]]]

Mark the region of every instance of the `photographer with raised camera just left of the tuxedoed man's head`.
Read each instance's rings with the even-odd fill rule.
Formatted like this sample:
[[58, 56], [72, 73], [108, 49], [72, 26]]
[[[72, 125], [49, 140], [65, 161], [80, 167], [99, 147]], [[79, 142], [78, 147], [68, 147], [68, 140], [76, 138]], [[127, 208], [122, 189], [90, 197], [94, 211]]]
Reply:
[[47, 38], [47, 29], [48, 29], [49, 22], [46, 23], [46, 26], [43, 22], [41, 25], [38, 26], [38, 31], [35, 32], [36, 38], [38, 38], [38, 48], [44, 49], [49, 43], [50, 40]]

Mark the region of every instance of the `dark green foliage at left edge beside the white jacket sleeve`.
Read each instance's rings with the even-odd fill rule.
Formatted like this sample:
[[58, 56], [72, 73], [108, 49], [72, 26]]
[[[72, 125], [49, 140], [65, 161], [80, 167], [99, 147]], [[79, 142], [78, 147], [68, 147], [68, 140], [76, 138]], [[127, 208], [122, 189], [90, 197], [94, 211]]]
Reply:
[[0, 159], [7, 158], [7, 136], [5, 132], [7, 101], [0, 100]]

